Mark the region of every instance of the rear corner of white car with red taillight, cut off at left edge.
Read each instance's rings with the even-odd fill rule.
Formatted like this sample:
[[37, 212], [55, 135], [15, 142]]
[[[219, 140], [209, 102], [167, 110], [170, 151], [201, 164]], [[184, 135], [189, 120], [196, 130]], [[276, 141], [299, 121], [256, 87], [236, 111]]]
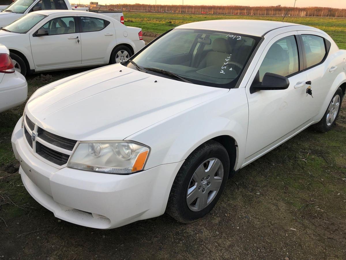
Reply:
[[26, 80], [15, 70], [9, 54], [0, 44], [0, 113], [23, 104], [28, 96]]

